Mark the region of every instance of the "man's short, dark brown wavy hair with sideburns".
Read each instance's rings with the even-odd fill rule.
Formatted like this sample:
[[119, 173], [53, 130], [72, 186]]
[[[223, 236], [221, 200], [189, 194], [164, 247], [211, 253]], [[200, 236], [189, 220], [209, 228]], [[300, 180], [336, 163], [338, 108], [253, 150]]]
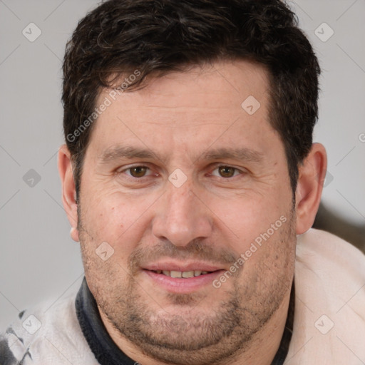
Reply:
[[128, 91], [151, 74], [237, 58], [269, 71], [269, 123], [284, 143], [294, 193], [298, 166], [312, 146], [320, 69], [280, 0], [109, 0], [83, 18], [63, 62], [63, 129], [76, 193], [101, 88], [136, 70]]

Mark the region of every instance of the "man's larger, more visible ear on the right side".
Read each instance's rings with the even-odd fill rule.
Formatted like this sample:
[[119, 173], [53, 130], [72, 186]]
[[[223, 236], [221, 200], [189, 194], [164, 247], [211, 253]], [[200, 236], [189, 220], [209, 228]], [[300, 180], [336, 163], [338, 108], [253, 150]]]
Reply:
[[295, 192], [297, 235], [307, 232], [313, 225], [321, 202], [326, 172], [326, 150], [320, 143], [314, 143], [309, 155], [299, 166], [299, 178]]

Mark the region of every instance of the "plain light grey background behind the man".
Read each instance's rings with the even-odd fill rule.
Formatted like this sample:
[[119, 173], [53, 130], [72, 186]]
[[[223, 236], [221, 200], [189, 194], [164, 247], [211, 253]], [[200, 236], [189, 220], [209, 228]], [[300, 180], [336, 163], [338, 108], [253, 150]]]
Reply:
[[[56, 168], [63, 143], [61, 59], [78, 20], [97, 2], [0, 0], [2, 329], [21, 309], [47, 298], [54, 302], [81, 283], [80, 250], [69, 237]], [[329, 155], [323, 200], [364, 224], [365, 0], [289, 4], [322, 66], [314, 140]], [[329, 39], [324, 22], [334, 31]], [[33, 42], [22, 34], [36, 35], [30, 23], [41, 29]]]

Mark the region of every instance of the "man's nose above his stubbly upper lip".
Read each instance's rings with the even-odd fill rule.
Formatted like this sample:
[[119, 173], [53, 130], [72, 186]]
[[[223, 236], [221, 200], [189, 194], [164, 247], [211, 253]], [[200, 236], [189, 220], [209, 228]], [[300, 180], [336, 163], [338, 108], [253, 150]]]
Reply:
[[153, 235], [183, 247], [192, 240], [207, 238], [212, 232], [210, 210], [192, 186], [185, 183], [175, 187], [168, 183], [168, 191], [160, 200], [153, 219]]

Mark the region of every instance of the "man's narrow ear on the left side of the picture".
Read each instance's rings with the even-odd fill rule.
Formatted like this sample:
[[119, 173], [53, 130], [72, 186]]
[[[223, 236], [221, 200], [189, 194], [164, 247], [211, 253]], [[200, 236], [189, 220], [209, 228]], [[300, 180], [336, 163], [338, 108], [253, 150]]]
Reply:
[[71, 238], [78, 242], [78, 215], [76, 203], [75, 180], [71, 163], [71, 153], [66, 145], [58, 150], [58, 173], [62, 183], [62, 202], [68, 222], [71, 224]]

